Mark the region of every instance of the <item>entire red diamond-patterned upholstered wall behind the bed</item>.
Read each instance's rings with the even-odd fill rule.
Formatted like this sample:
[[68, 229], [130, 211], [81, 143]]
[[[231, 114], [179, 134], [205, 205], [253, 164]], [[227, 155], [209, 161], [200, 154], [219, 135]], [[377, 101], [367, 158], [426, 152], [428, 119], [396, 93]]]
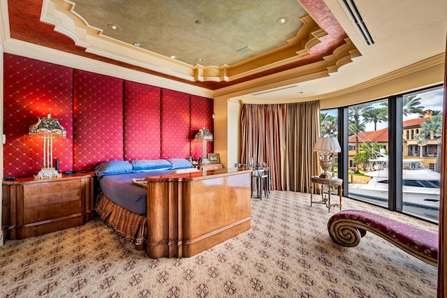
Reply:
[[203, 126], [213, 133], [211, 98], [13, 54], [3, 59], [6, 176], [41, 170], [43, 142], [28, 129], [47, 113], [67, 130], [66, 139], [53, 144], [61, 172], [93, 170], [109, 160], [197, 159], [202, 147], [194, 135]]

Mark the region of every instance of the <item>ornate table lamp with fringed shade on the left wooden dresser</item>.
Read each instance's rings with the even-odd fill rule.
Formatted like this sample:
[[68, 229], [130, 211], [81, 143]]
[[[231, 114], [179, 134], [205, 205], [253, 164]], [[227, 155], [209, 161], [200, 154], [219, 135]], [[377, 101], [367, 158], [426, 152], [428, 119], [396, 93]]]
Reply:
[[38, 117], [37, 123], [29, 128], [30, 137], [43, 138], [43, 167], [34, 176], [34, 180], [61, 178], [62, 175], [53, 167], [53, 139], [65, 139], [67, 131], [59, 124], [58, 119]]

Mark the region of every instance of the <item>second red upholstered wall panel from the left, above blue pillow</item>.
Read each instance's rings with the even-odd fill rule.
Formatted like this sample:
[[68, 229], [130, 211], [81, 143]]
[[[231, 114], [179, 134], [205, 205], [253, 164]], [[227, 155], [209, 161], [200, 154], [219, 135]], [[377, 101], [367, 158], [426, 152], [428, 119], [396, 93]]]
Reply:
[[75, 70], [75, 171], [123, 159], [123, 80]]

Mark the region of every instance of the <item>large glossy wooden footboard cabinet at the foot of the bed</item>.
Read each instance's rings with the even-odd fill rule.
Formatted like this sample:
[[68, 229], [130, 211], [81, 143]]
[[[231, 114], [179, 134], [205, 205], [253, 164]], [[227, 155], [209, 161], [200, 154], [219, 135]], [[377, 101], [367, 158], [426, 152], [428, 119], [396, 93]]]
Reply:
[[147, 178], [149, 258], [191, 257], [251, 227], [250, 170]]

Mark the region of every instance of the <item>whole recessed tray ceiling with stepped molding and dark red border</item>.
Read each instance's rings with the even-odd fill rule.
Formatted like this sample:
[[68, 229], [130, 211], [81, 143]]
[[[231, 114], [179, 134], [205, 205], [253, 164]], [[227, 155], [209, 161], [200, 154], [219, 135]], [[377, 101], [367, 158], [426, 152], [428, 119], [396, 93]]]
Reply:
[[[203, 4], [203, 8], [182, 5], [182, 9], [188, 13], [183, 13], [174, 2], [170, 6], [166, 6], [164, 1], [159, 1], [161, 4], [154, 2], [150, 9], [156, 8], [156, 13], [151, 13], [147, 11], [149, 9], [147, 1], [137, 4], [126, 2], [126, 6], [123, 7], [119, 6], [122, 1], [89, 1], [94, 4], [83, 4], [81, 1], [84, 0], [79, 0], [78, 3], [69, 0], [27, 0], [25, 7], [19, 1], [9, 0], [10, 37], [210, 90], [254, 81], [285, 70], [296, 70], [286, 74], [290, 78], [310, 73], [328, 75], [329, 72], [336, 71], [339, 66], [349, 63], [351, 60], [345, 57], [349, 57], [355, 49], [349, 40], [346, 40], [346, 33], [323, 0], [302, 0], [300, 2], [302, 6], [295, 0], [264, 1], [263, 5], [258, 5], [256, 1], [225, 1], [225, 3], [231, 2], [226, 9], [219, 8], [217, 4], [208, 6], [208, 3]], [[247, 3], [252, 5], [241, 6], [239, 2], [245, 3], [243, 5]], [[82, 5], [86, 7], [80, 11]], [[305, 10], [302, 7], [305, 7]], [[105, 13], [105, 8], [112, 9], [109, 13]], [[135, 11], [139, 13], [135, 14]], [[197, 11], [200, 11], [201, 20], [196, 15]], [[304, 11], [308, 14], [302, 15]], [[135, 15], [140, 15], [142, 20], [138, 21]], [[166, 26], [161, 21], [166, 17], [158, 19], [158, 15], [171, 15], [168, 36], [161, 33], [162, 30], [168, 30], [163, 28]], [[189, 17], [186, 17], [188, 15]], [[149, 25], [143, 27], [142, 24], [149, 22], [146, 19], [152, 17], [162, 24], [154, 22], [151, 24], [156, 27]], [[287, 17], [288, 22], [284, 25], [277, 24], [279, 17]], [[91, 20], [87, 21], [87, 18]], [[127, 22], [131, 22], [129, 21], [131, 19], [135, 23], [128, 25]], [[210, 20], [215, 19], [221, 22], [225, 20], [228, 25], [221, 28], [222, 24], [212, 24]], [[196, 24], [197, 20], [202, 24]], [[244, 23], [247, 20], [258, 25], [249, 26]], [[191, 28], [186, 30], [184, 27], [186, 25], [180, 25], [186, 22], [189, 22], [188, 26], [192, 26], [193, 29], [215, 27], [216, 32], [209, 31], [207, 35], [205, 34], [206, 38], [202, 36], [201, 39], [197, 39], [199, 34], [195, 30]], [[119, 30], [110, 32], [108, 24], [117, 24]], [[294, 26], [294, 29], [291, 28]], [[244, 31], [241, 30], [242, 27], [245, 29], [254, 27], [261, 33]], [[278, 33], [278, 28], [281, 33]], [[154, 30], [155, 33], [145, 34], [144, 31], [147, 30]], [[126, 42], [117, 39], [124, 39], [128, 31], [132, 31], [133, 34], [140, 32], [142, 37], [136, 41], [141, 47], [131, 44], [137, 37], [129, 38]], [[223, 33], [224, 31], [226, 33]], [[109, 33], [122, 36], [109, 37], [106, 35]], [[156, 38], [156, 42], [149, 43], [144, 40], [150, 36]], [[158, 43], [162, 45], [158, 51], [164, 51], [166, 54], [155, 52], [152, 46], [155, 47]], [[263, 50], [258, 48], [261, 45], [264, 46]], [[254, 50], [242, 54], [237, 52], [245, 47]], [[335, 50], [340, 47], [343, 49], [334, 55]], [[170, 59], [165, 56], [172, 54], [178, 58]], [[254, 54], [256, 56], [251, 57]], [[197, 64], [196, 58], [203, 59], [204, 63]], [[184, 62], [188, 59], [193, 60], [192, 64]], [[228, 59], [237, 63], [228, 65], [230, 64], [230, 61], [226, 61]], [[343, 60], [342, 63], [338, 62], [340, 59]], [[214, 62], [208, 64], [208, 60]], [[316, 64], [318, 61], [323, 64]], [[301, 67], [307, 65], [312, 65], [313, 69]], [[281, 80], [284, 80], [284, 77], [281, 77]]]

